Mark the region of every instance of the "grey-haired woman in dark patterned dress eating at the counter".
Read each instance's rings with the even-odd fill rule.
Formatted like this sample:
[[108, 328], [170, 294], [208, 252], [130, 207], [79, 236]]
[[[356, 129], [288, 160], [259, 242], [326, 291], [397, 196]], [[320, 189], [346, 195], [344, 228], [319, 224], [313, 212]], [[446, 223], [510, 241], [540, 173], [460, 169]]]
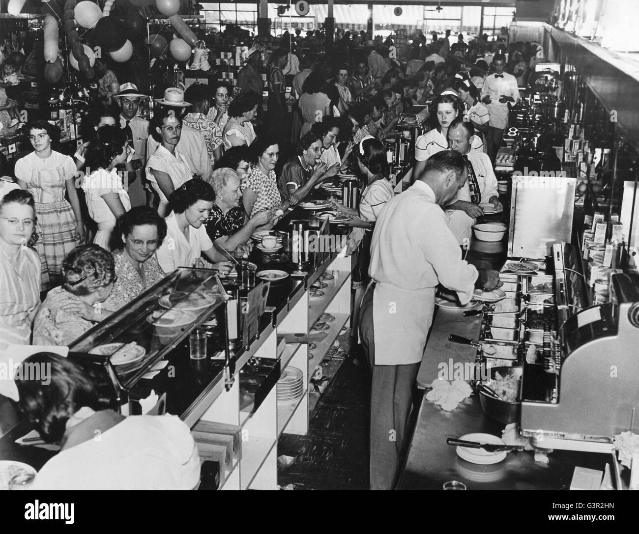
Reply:
[[[242, 182], [233, 169], [217, 169], [207, 178], [215, 191], [215, 202], [206, 219], [206, 232], [211, 240], [226, 250], [236, 250], [272, 218], [272, 210], [258, 211], [247, 220], [242, 203]], [[250, 245], [249, 245], [250, 247]]]

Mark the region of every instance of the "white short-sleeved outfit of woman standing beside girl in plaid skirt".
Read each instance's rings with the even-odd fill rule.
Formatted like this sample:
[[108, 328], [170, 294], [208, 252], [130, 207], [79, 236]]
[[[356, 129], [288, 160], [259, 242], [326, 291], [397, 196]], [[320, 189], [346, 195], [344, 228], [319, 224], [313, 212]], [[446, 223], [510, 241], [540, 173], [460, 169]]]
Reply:
[[131, 201], [122, 186], [122, 179], [118, 176], [116, 169], [112, 169], [111, 172], [106, 169], [98, 169], [84, 178], [82, 190], [86, 195], [89, 215], [98, 225], [93, 243], [111, 252], [109, 241], [111, 241], [111, 234], [116, 226], [116, 216], [113, 215], [102, 195], [115, 193], [122, 202], [125, 211], [130, 210]]

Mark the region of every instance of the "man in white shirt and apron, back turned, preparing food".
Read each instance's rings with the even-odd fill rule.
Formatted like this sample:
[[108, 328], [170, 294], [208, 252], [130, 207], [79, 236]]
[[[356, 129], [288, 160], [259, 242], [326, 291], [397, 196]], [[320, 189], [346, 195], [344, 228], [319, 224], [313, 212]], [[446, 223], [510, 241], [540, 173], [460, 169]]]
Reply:
[[[372, 369], [371, 489], [392, 489], [404, 453], [412, 388], [442, 284], [468, 303], [475, 286], [493, 289], [496, 271], [477, 271], [461, 259], [441, 206], [466, 182], [466, 164], [452, 150], [427, 161], [406, 192], [381, 211], [371, 243], [360, 335]], [[436, 357], [436, 355], [433, 355]]]

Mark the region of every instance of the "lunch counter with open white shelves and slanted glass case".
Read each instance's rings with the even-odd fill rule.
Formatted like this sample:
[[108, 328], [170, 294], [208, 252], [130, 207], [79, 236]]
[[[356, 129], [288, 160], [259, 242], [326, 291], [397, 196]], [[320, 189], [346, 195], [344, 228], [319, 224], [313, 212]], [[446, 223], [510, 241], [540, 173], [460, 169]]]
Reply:
[[[313, 197], [325, 195], [319, 189]], [[70, 346], [69, 357], [102, 365], [123, 413], [171, 413], [192, 427], [201, 459], [217, 462], [223, 489], [277, 488], [277, 439], [307, 432], [343, 362], [334, 344], [351, 314], [348, 227], [321, 224], [315, 213], [289, 212], [270, 231], [282, 238], [276, 252], [254, 247], [252, 291], [236, 277], [179, 268]], [[291, 219], [302, 222], [301, 245], [289, 238]], [[190, 358], [196, 329], [207, 334], [201, 360]], [[16, 443], [30, 431], [22, 420], [4, 434], [0, 459], [40, 469], [55, 451]], [[226, 453], [224, 436], [232, 438]]]

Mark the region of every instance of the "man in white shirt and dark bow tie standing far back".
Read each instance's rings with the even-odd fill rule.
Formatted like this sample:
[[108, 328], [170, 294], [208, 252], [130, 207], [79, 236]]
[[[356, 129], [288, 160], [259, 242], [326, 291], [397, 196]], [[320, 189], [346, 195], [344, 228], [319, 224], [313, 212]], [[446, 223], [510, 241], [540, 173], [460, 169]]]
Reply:
[[520, 100], [517, 79], [504, 72], [506, 58], [502, 54], [493, 57], [494, 74], [486, 77], [481, 88], [481, 101], [490, 114], [490, 128], [486, 134], [486, 149], [491, 161], [495, 161], [504, 130], [508, 125], [509, 103], [516, 104]]

